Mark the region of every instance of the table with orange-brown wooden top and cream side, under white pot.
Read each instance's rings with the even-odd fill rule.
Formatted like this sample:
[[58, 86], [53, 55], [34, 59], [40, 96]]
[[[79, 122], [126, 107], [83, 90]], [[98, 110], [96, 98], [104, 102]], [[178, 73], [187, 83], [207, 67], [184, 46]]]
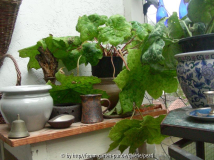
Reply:
[[[158, 110], [144, 115], [158, 116], [166, 113], [166, 110]], [[141, 119], [141, 116], [136, 115], [134, 118]], [[79, 155], [102, 155], [112, 143], [108, 138], [110, 128], [119, 120], [121, 118], [104, 119], [94, 124], [77, 122], [65, 129], [52, 129], [47, 125], [21, 139], [9, 139], [8, 126], [0, 124], [1, 150], [3, 152], [3, 148], [6, 148], [20, 160], [63, 160], [79, 159]], [[77, 158], [71, 157], [75, 155]], [[3, 155], [0, 159], [4, 159]]]

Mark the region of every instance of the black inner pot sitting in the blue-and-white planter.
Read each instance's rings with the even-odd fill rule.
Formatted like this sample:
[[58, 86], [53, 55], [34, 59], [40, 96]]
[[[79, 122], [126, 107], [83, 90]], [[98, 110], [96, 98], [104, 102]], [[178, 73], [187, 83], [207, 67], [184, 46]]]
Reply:
[[204, 34], [183, 38], [179, 41], [183, 53], [214, 49], [214, 34]]

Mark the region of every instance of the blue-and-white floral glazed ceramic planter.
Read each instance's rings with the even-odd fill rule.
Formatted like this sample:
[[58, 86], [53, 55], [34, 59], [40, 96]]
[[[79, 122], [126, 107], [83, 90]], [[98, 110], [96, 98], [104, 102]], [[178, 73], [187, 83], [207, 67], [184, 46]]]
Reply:
[[208, 107], [205, 91], [214, 90], [214, 50], [175, 55], [177, 77], [192, 108]]

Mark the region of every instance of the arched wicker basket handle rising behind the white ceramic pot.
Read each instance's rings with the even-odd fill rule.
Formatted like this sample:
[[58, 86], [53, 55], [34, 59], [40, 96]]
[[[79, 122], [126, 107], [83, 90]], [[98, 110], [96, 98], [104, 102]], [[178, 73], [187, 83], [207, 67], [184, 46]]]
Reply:
[[[13, 58], [13, 56], [10, 55], [10, 54], [5, 54], [3, 56], [0, 56], [0, 63], [3, 62], [3, 60], [6, 57], [10, 58], [13, 61], [13, 63], [14, 63], [14, 66], [15, 66], [15, 69], [16, 69], [16, 73], [17, 73], [16, 85], [20, 86], [21, 85], [21, 72], [20, 72], [18, 64], [17, 64], [16, 60]], [[2, 93], [0, 93], [0, 100], [1, 100], [1, 98], [2, 98]], [[2, 114], [0, 112], [0, 124], [4, 124], [4, 123], [5, 123], [4, 118], [2, 117]]]

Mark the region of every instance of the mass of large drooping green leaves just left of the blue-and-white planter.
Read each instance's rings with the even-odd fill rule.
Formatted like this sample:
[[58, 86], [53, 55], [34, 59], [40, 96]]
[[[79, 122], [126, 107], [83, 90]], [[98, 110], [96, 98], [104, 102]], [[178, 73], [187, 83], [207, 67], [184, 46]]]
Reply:
[[[177, 15], [174, 14], [172, 18], [176, 19]], [[169, 21], [169, 26], [171, 23], [174, 22]], [[118, 106], [118, 114], [131, 112], [133, 103], [140, 107], [145, 91], [153, 98], [158, 98], [163, 91], [171, 93], [177, 90], [177, 61], [174, 55], [181, 50], [177, 41], [169, 37], [171, 32], [174, 32], [173, 29], [166, 28], [164, 21], [161, 21], [150, 33], [145, 32], [144, 43], [139, 49], [128, 49], [127, 62], [130, 71], [124, 69], [115, 78], [121, 89], [121, 107]]]

